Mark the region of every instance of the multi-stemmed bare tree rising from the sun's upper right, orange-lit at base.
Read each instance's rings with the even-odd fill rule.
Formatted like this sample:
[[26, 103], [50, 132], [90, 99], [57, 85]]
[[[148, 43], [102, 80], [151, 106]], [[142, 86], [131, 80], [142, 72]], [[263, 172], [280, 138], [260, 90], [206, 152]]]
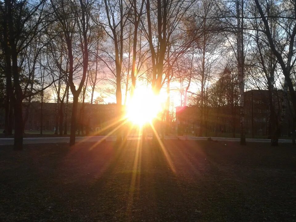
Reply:
[[[146, 0], [147, 28], [143, 26], [143, 29], [150, 47], [151, 85], [155, 93], [159, 93], [163, 85], [163, 65], [171, 37], [177, 28], [180, 28], [179, 25], [193, 3], [194, 1], [158, 0], [150, 6], [150, 0]], [[186, 40], [180, 46], [180, 51], [186, 51], [191, 46], [192, 42]]]

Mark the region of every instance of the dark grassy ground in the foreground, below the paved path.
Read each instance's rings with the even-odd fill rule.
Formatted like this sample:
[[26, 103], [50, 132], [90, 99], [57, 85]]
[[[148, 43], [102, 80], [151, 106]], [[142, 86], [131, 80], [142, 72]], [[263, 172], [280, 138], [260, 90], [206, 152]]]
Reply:
[[288, 144], [0, 146], [0, 221], [296, 221], [295, 162]]

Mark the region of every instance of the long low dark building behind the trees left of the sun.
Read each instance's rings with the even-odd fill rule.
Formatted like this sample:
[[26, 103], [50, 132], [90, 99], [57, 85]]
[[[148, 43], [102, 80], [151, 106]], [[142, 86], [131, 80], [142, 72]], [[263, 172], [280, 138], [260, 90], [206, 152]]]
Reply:
[[[43, 131], [55, 131], [56, 117], [58, 116], [56, 103], [43, 103]], [[116, 118], [116, 104], [84, 104], [84, 113], [81, 114], [82, 104], [78, 104], [77, 128], [79, 124], [88, 127], [91, 131], [102, 129]], [[0, 112], [0, 126], [4, 128], [4, 109]], [[71, 129], [72, 103], [64, 104], [64, 122], [67, 121], [67, 130]], [[32, 101], [30, 104], [23, 103], [24, 130], [40, 130], [41, 126], [41, 103]], [[64, 125], [64, 124], [63, 124]]]

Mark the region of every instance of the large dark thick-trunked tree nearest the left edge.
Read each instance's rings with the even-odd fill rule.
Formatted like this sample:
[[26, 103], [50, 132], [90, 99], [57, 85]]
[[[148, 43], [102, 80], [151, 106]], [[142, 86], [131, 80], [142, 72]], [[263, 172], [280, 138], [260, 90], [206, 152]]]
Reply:
[[[14, 106], [14, 149], [22, 150], [23, 147], [23, 105], [26, 97], [38, 94], [40, 91], [30, 93], [23, 84], [23, 58], [24, 52], [35, 41], [35, 37], [46, 29], [48, 23], [43, 23], [46, 16], [45, 1], [36, 3], [23, 1], [4, 1], [0, 4], [1, 13], [1, 46], [6, 58], [6, 84], [10, 102]], [[37, 38], [38, 39], [38, 38]], [[45, 43], [37, 45], [35, 57], [38, 57], [40, 49]], [[27, 74], [27, 73], [26, 73]], [[25, 74], [25, 75], [26, 75]], [[28, 73], [27, 80], [32, 79]], [[12, 85], [13, 80], [13, 85]], [[26, 81], [28, 83], [28, 81]], [[47, 85], [45, 88], [49, 87]], [[42, 89], [43, 90], [43, 89]]]

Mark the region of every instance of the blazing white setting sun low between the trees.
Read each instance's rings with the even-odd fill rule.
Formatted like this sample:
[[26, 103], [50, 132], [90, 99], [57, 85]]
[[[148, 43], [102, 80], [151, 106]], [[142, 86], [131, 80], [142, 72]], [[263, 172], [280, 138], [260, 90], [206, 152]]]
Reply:
[[161, 96], [146, 87], [136, 88], [125, 111], [125, 117], [132, 124], [142, 127], [146, 123], [151, 123], [163, 111]]

